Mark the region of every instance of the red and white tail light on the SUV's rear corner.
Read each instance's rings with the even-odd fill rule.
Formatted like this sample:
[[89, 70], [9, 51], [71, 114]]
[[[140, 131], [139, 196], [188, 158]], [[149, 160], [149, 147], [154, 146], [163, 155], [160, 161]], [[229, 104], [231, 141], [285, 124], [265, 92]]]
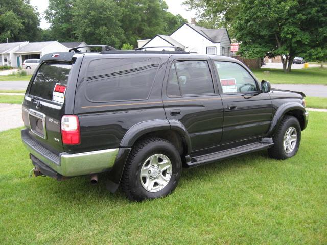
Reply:
[[75, 115], [67, 115], [61, 118], [61, 137], [64, 144], [81, 143], [80, 123]]

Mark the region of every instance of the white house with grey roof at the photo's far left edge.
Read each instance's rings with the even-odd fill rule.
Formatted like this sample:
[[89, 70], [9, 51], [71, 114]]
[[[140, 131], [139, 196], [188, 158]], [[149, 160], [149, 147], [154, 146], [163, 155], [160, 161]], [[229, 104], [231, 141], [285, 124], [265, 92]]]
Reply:
[[14, 52], [21, 47], [24, 47], [29, 42], [9, 42], [0, 43], [0, 66], [17, 66], [16, 56]]

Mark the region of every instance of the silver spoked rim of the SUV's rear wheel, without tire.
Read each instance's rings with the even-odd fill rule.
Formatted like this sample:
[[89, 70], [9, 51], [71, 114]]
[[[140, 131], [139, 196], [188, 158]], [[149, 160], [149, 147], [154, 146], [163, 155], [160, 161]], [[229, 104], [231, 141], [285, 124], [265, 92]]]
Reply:
[[142, 165], [139, 178], [144, 189], [157, 192], [164, 189], [172, 175], [172, 163], [163, 154], [154, 154]]

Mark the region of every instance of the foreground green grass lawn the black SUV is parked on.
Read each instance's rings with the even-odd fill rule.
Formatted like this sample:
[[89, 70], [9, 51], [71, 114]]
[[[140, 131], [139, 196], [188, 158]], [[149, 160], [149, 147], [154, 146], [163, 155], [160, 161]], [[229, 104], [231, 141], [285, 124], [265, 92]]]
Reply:
[[327, 113], [298, 154], [266, 151], [183, 169], [169, 197], [131, 202], [105, 177], [57, 182], [32, 169], [19, 129], [0, 133], [1, 244], [326, 244]]

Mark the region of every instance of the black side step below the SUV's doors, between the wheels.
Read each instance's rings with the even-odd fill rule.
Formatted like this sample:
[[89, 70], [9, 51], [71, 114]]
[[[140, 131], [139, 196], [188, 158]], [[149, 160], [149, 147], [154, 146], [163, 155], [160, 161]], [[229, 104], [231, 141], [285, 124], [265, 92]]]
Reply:
[[194, 157], [191, 159], [191, 162], [187, 163], [187, 165], [189, 167], [195, 167], [195, 166], [199, 166], [199, 165], [203, 165], [203, 164], [207, 164], [207, 163], [212, 163], [212, 162], [216, 162], [216, 161], [223, 160], [226, 158], [243, 155], [246, 153], [268, 149], [273, 144], [274, 143], [272, 142], [272, 140], [246, 144], [246, 145], [238, 146], [236, 148]]

